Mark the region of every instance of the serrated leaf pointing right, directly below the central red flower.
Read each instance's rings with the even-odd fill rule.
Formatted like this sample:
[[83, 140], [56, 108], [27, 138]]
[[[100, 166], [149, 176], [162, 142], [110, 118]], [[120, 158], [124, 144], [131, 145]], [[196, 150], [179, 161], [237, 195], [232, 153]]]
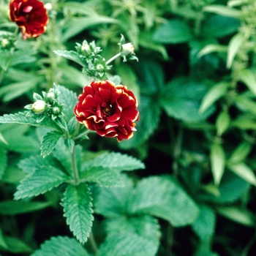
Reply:
[[145, 169], [145, 165], [139, 159], [116, 152], [101, 154], [93, 160], [86, 162], [86, 167], [102, 166], [121, 172], [122, 170]]

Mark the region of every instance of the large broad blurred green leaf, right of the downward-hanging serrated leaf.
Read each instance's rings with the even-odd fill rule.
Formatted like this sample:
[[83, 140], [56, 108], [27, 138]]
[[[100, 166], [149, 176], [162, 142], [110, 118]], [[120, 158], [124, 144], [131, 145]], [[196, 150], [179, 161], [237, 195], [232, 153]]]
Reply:
[[166, 219], [175, 227], [194, 222], [198, 214], [195, 202], [167, 176], [152, 176], [140, 181], [130, 208], [133, 214], [151, 214]]

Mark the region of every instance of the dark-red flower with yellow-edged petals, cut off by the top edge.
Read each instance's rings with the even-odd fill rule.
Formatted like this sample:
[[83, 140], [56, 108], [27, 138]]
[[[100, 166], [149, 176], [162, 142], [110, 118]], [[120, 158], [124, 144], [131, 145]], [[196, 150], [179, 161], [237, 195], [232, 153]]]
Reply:
[[20, 27], [23, 39], [45, 33], [48, 14], [42, 1], [12, 0], [9, 16]]

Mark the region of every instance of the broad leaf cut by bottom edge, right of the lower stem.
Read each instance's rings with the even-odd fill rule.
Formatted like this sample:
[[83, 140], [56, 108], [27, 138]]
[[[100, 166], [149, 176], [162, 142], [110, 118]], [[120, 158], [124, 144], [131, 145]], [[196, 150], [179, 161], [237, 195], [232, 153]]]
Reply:
[[99, 247], [97, 256], [154, 256], [156, 246], [153, 241], [134, 233], [119, 233], [108, 237]]

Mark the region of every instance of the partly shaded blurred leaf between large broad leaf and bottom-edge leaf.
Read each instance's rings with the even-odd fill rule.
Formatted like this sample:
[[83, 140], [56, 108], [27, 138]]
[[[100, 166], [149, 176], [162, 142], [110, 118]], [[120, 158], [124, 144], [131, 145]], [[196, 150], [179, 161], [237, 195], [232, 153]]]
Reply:
[[157, 219], [150, 215], [110, 218], [105, 223], [108, 236], [118, 235], [121, 230], [124, 233], [137, 234], [159, 246], [160, 226]]

